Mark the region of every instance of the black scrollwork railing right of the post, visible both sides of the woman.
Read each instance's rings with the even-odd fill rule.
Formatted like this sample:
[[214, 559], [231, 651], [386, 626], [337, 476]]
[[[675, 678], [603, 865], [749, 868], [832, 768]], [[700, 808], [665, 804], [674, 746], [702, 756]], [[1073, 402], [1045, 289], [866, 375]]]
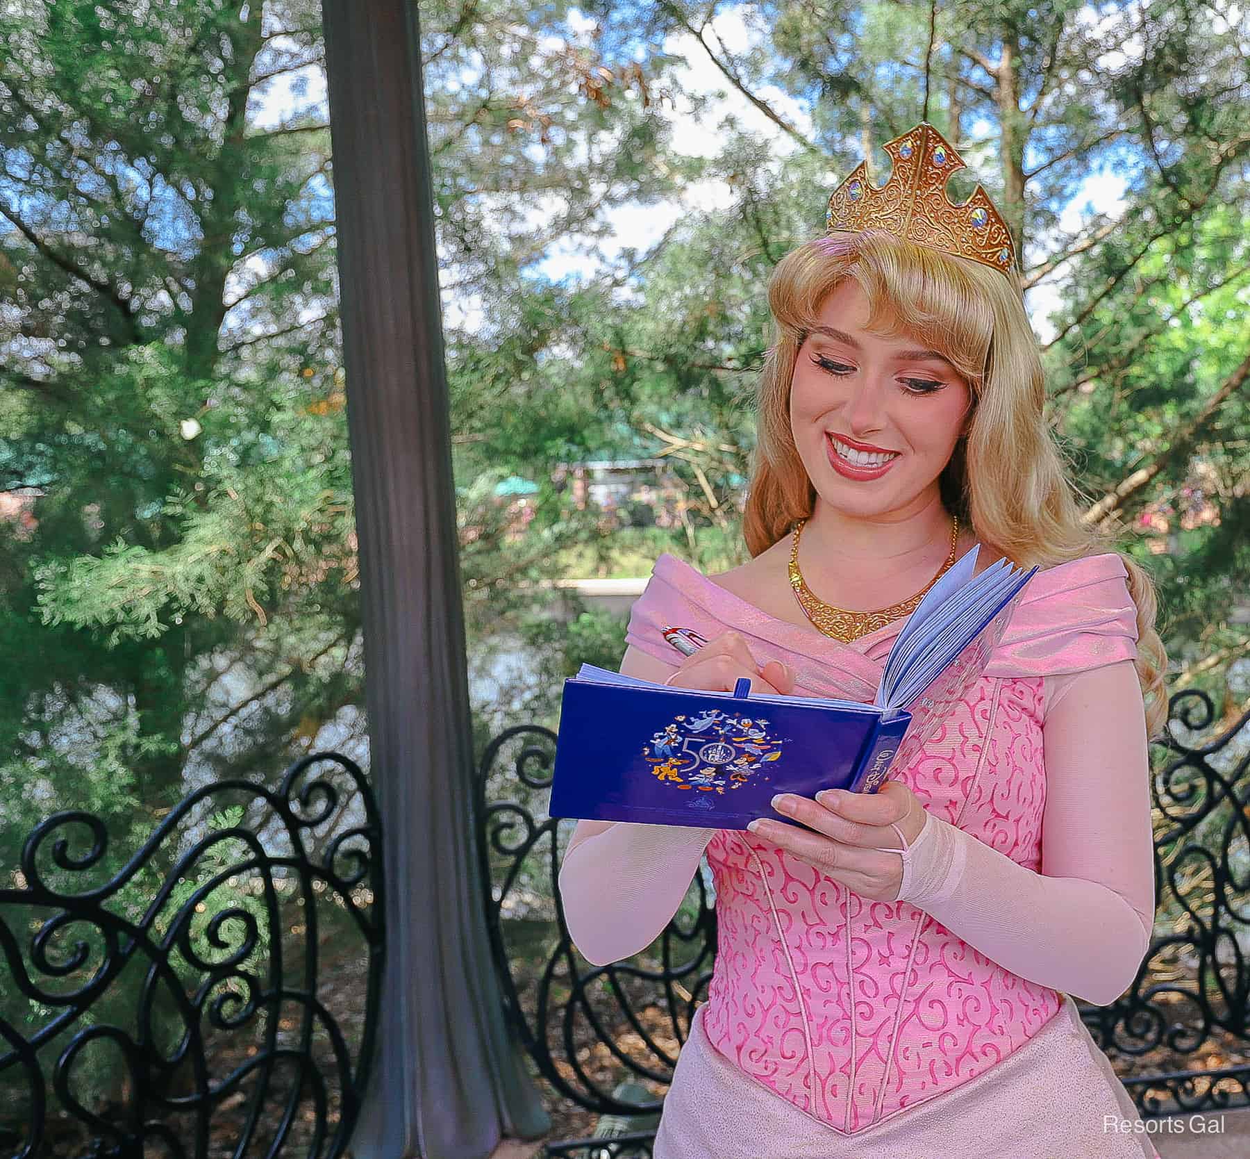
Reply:
[[[1169, 701], [1155, 745], [1156, 925], [1132, 986], [1081, 1016], [1142, 1118], [1250, 1105], [1250, 713], [1214, 739], [1210, 698]], [[1181, 739], [1184, 738], [1184, 739]], [[592, 966], [574, 949], [558, 874], [572, 821], [546, 816], [555, 734], [520, 725], [478, 771], [478, 848], [486, 920], [509, 1018], [554, 1103], [599, 1115], [654, 1115], [690, 1019], [706, 995], [716, 918], [706, 865], [642, 954]], [[632, 1078], [655, 1091], [622, 1103]], [[650, 1155], [654, 1131], [570, 1138], [548, 1155]]]

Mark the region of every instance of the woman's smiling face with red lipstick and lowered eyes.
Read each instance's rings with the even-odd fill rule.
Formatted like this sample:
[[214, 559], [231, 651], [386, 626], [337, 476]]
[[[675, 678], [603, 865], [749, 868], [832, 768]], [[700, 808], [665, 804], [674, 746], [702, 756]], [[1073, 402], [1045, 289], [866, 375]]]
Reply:
[[[870, 334], [868, 319], [854, 278], [826, 295], [795, 360], [790, 423], [820, 499], [849, 515], [905, 518], [939, 494], [972, 395], [936, 351]], [[878, 450], [852, 450], [848, 461], [834, 440]]]

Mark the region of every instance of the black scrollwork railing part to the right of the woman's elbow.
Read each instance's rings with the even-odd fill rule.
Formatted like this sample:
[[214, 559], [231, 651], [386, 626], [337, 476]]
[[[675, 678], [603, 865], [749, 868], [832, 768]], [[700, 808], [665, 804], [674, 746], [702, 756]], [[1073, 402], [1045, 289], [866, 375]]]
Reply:
[[1204, 691], [1169, 700], [1154, 761], [1155, 935], [1129, 990], [1081, 1011], [1129, 1064], [1142, 1118], [1250, 1106], [1250, 713], [1201, 739], [1216, 720]]

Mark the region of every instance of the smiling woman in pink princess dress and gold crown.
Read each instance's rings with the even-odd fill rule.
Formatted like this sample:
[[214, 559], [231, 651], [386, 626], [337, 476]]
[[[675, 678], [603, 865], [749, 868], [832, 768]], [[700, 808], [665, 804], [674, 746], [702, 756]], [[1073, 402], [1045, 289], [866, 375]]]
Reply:
[[[715, 971], [656, 1159], [1156, 1156], [1072, 1000], [1114, 1001], [1151, 935], [1154, 590], [1081, 521], [1014, 258], [982, 244], [989, 199], [950, 206], [961, 161], [929, 125], [886, 150], [906, 188], [856, 188], [856, 170], [828, 236], [769, 285], [751, 560], [704, 576], [661, 555], [621, 671], [868, 701], [965, 551], [978, 571], [1041, 570], [984, 676], [879, 793], [774, 799], [802, 829], [579, 821], [565, 918], [591, 963], [635, 954], [708, 855]], [[956, 211], [962, 234], [936, 228]], [[669, 625], [709, 643], [682, 658]]]

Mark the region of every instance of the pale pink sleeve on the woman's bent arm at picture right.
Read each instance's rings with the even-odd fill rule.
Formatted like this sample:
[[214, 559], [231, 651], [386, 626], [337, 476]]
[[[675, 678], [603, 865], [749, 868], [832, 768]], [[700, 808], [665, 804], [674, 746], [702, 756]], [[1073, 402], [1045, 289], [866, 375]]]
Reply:
[[1020, 976], [1108, 1005], [1149, 948], [1155, 876], [1135, 606], [1112, 559], [1094, 560], [1070, 624], [1048, 631], [1058, 605], [1039, 604], [995, 654], [999, 675], [1045, 678], [1040, 873], [926, 813], [900, 898]]

